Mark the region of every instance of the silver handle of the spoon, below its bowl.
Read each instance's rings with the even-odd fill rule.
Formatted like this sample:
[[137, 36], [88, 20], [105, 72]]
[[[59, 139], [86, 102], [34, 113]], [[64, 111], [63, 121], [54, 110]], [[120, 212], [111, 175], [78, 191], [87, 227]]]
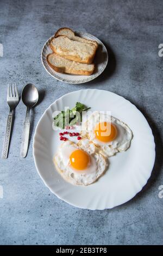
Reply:
[[30, 108], [27, 108], [26, 119], [23, 125], [22, 144], [21, 144], [21, 157], [26, 157], [28, 151], [29, 142], [29, 130], [30, 130]]

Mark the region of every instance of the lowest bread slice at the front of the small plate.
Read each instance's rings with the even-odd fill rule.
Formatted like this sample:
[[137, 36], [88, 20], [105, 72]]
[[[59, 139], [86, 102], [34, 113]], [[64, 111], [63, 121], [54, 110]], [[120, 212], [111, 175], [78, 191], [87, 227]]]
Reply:
[[56, 53], [48, 54], [47, 62], [52, 69], [60, 73], [76, 74], [76, 75], [91, 75], [95, 68], [94, 64], [83, 64], [65, 59]]

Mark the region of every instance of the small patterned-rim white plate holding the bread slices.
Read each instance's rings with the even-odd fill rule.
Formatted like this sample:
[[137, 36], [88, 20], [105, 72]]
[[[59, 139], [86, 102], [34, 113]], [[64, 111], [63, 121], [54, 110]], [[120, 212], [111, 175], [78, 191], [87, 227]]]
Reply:
[[75, 33], [80, 37], [90, 39], [90, 40], [95, 40], [96, 42], [98, 42], [99, 46], [95, 56], [95, 72], [92, 75], [79, 76], [79, 75], [71, 75], [71, 74], [62, 74], [54, 71], [48, 65], [46, 57], [49, 53], [52, 53], [51, 47], [49, 46], [49, 42], [52, 40], [54, 35], [51, 38], [49, 38], [46, 41], [45, 45], [43, 46], [42, 52], [41, 52], [41, 60], [46, 71], [57, 80], [60, 80], [65, 83], [86, 83], [102, 74], [102, 72], [104, 71], [108, 63], [108, 52], [104, 44], [98, 38], [96, 38], [96, 36], [83, 33], [83, 32], [75, 32]]

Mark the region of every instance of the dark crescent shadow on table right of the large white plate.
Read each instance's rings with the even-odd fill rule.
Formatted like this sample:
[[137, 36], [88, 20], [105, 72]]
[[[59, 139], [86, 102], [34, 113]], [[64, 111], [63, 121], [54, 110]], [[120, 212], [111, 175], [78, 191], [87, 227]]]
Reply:
[[[128, 99], [128, 100], [131, 101], [130, 99]], [[134, 103], [134, 105], [136, 106], [136, 103]], [[158, 180], [160, 172], [161, 172], [161, 167], [162, 167], [162, 164], [163, 164], [163, 159], [162, 159], [163, 147], [162, 147], [162, 140], [161, 140], [159, 129], [144, 109], [142, 109], [139, 106], [137, 106], [137, 108], [145, 116], [145, 118], [147, 119], [148, 124], [151, 127], [152, 132], [153, 132], [154, 141], [155, 141], [155, 153], [156, 153], [155, 163], [154, 163], [154, 167], [153, 167], [153, 170], [152, 170], [151, 177], [147, 181], [147, 184], [142, 188], [142, 190], [139, 193], [136, 194], [136, 196], [134, 198], [129, 200], [127, 203], [118, 206], [119, 208], [121, 208], [124, 205], [127, 206], [127, 205], [130, 205], [132, 203], [138, 202], [139, 199], [142, 196], [145, 196], [145, 194], [148, 193], [148, 191], [151, 189], [151, 187], [154, 186], [156, 180]]]

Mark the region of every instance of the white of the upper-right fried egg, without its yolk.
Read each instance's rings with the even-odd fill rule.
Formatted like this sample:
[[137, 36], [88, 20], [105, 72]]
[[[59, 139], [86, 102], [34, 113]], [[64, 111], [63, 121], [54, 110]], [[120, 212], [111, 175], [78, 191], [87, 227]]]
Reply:
[[[116, 126], [117, 136], [111, 142], [102, 142], [96, 138], [95, 127], [103, 121], [110, 122]], [[110, 115], [93, 112], [82, 127], [82, 136], [87, 137], [97, 147], [100, 147], [100, 153], [104, 156], [113, 156], [118, 151], [126, 151], [130, 147], [130, 141], [133, 133], [127, 124]]]

